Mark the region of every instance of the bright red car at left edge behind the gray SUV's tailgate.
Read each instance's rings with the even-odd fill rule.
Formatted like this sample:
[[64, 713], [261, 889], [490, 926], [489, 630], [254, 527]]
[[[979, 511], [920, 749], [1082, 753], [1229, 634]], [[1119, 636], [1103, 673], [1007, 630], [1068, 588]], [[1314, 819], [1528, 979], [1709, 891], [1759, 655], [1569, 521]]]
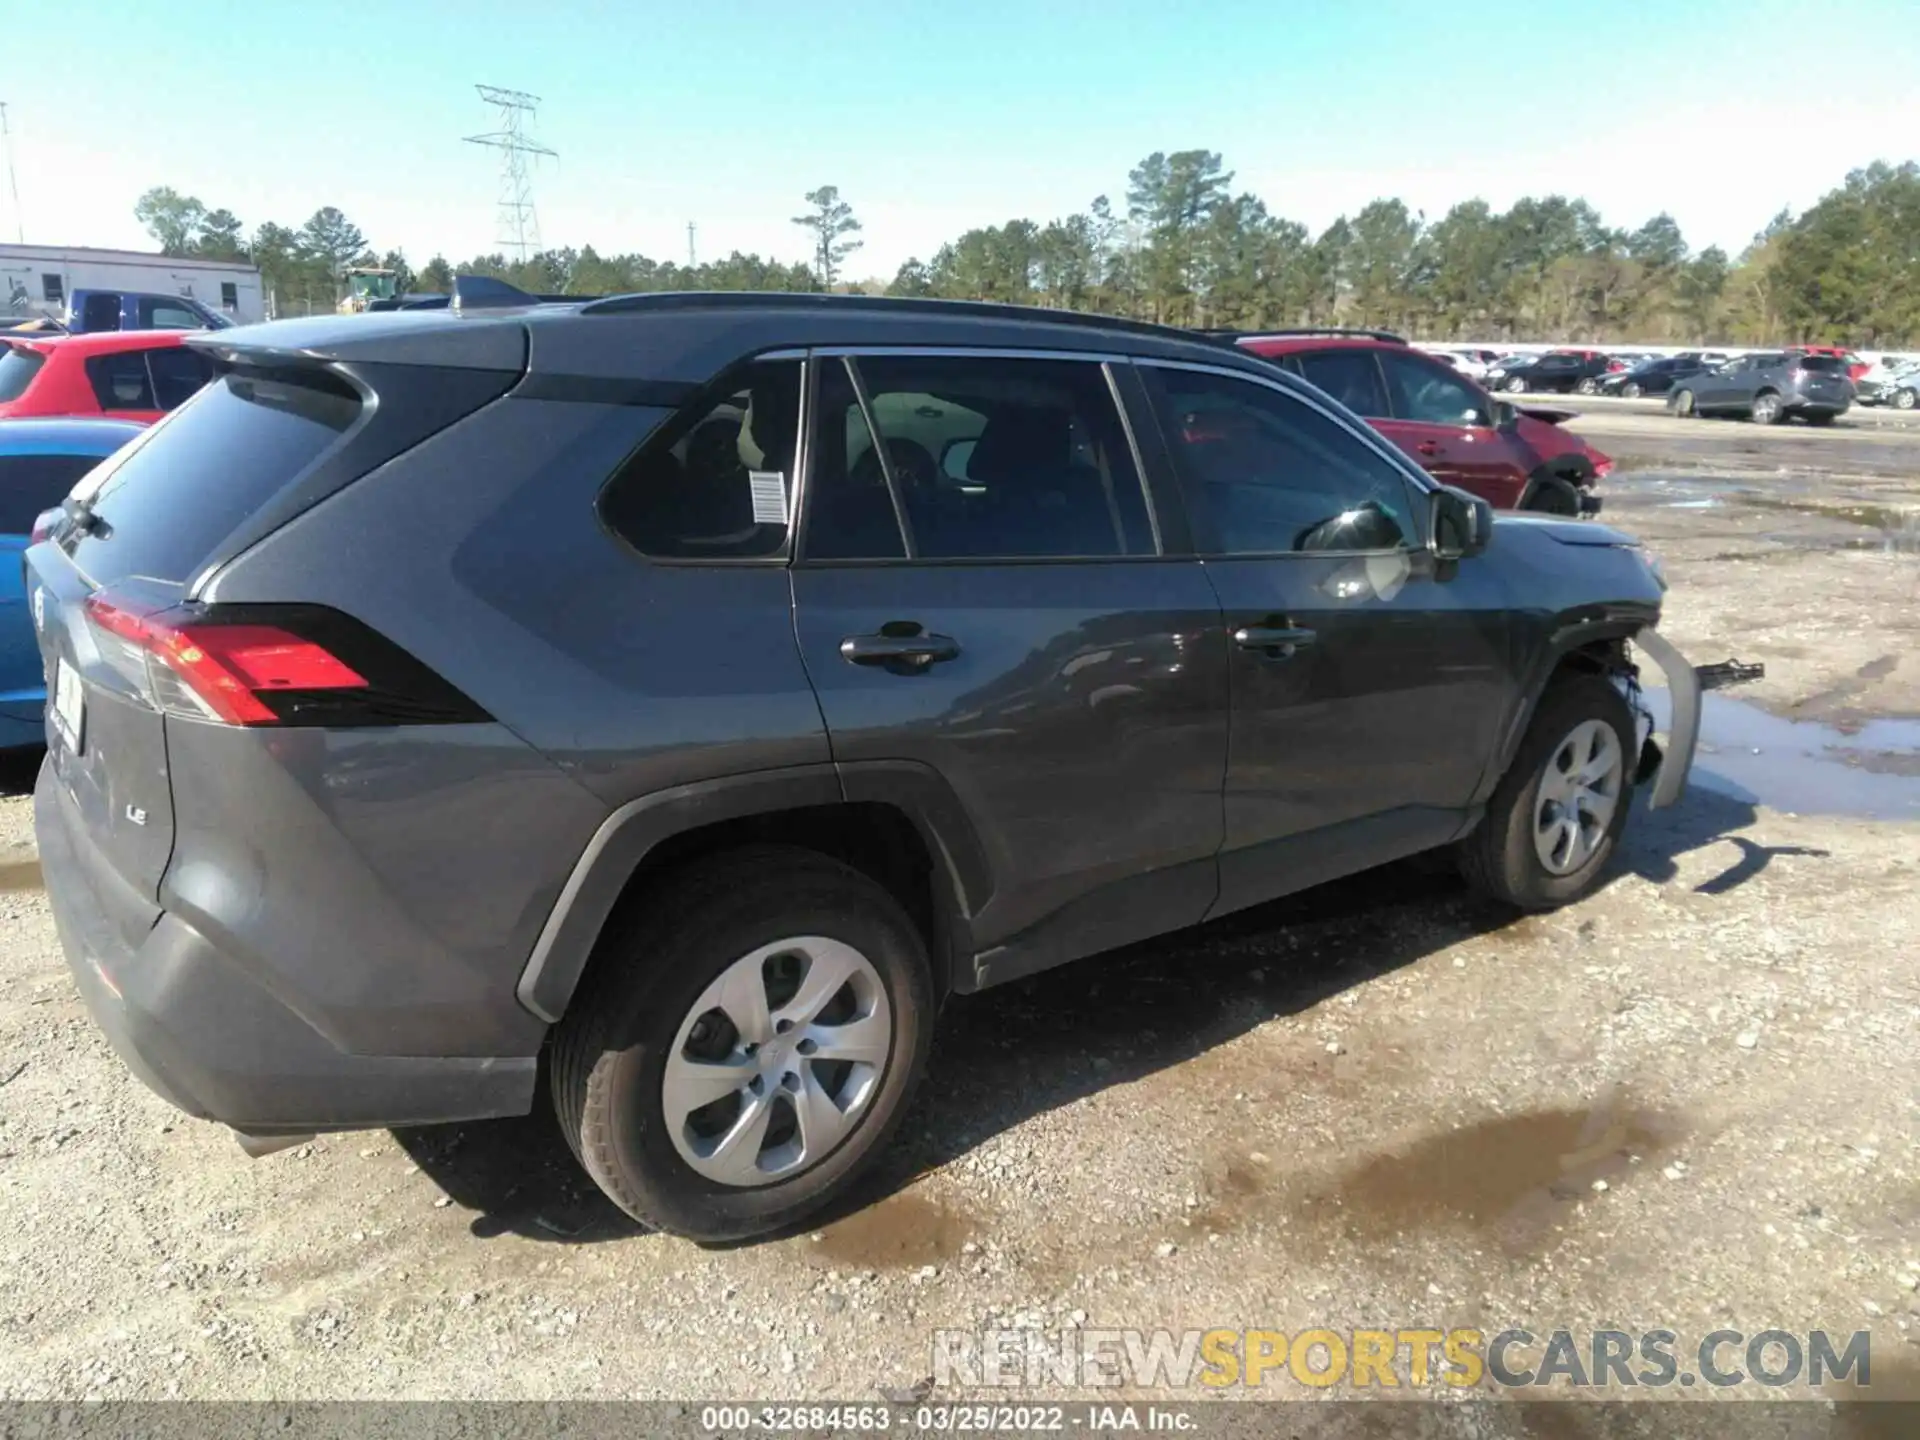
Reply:
[[213, 378], [213, 363], [180, 338], [179, 330], [0, 336], [0, 420], [157, 420]]

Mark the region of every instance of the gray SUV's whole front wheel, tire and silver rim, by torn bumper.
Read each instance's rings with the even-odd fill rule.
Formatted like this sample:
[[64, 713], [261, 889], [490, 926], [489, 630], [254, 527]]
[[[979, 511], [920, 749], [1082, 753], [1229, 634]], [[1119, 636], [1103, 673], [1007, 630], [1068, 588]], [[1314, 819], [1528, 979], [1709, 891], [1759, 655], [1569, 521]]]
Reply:
[[1626, 828], [1632, 753], [1634, 714], [1611, 680], [1549, 684], [1486, 818], [1459, 843], [1467, 883], [1521, 910], [1592, 893]]

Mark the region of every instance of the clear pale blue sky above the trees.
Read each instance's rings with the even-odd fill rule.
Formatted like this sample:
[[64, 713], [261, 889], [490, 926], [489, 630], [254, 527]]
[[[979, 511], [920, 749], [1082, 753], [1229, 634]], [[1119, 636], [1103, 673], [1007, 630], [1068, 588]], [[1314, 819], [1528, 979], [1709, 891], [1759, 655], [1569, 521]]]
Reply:
[[[1738, 250], [1847, 169], [1920, 154], [1914, 0], [8, 0], [29, 242], [144, 246], [171, 184], [248, 223], [340, 205], [415, 263], [497, 238], [474, 83], [530, 90], [547, 244], [803, 259], [837, 184], [854, 276], [973, 225], [1123, 202], [1152, 150], [1323, 227], [1553, 190]], [[21, 44], [48, 36], [48, 44]], [[52, 36], [58, 36], [52, 38]], [[23, 54], [40, 60], [21, 63]], [[0, 186], [0, 238], [15, 238]]]

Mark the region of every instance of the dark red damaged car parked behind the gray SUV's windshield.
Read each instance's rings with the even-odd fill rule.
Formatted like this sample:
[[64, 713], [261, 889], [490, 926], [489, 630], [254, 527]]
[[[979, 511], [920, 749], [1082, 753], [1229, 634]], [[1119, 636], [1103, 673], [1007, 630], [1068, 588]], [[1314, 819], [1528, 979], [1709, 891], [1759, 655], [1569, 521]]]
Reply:
[[1235, 344], [1298, 374], [1496, 509], [1594, 515], [1613, 461], [1561, 428], [1571, 411], [1496, 401], [1453, 367], [1384, 330], [1279, 330]]

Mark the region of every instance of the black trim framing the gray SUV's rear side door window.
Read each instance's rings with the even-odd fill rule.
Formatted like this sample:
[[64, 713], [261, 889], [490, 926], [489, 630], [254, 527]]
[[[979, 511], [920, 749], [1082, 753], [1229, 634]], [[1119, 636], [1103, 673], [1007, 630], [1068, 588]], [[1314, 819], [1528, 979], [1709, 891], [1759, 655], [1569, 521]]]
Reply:
[[[904, 557], [870, 555], [860, 559], [837, 559], [837, 557], [810, 559], [806, 555], [806, 524], [810, 518], [810, 509], [806, 507], [806, 488], [808, 488], [808, 476], [812, 474], [814, 468], [812, 465], [814, 455], [812, 455], [812, 445], [803, 444], [799, 449], [801, 482], [799, 486], [795, 486], [795, 503], [799, 505], [801, 524], [791, 543], [793, 549], [791, 564], [795, 568], [847, 570], [847, 568], [902, 566], [902, 564], [912, 564], [918, 568], [933, 568], [933, 566], [979, 568], [979, 566], [998, 566], [998, 564], [1142, 564], [1142, 563], [1164, 563], [1164, 561], [1192, 563], [1194, 553], [1190, 549], [1185, 551], [1167, 549], [1160, 522], [1160, 511], [1156, 507], [1154, 484], [1146, 470], [1144, 455], [1140, 451], [1140, 440], [1133, 428], [1135, 424], [1133, 411], [1127, 405], [1119, 390], [1119, 384], [1116, 380], [1114, 372], [1116, 365], [1133, 365], [1140, 357], [1106, 349], [1054, 349], [1046, 346], [950, 346], [950, 344], [948, 346], [812, 346], [806, 349], [806, 353], [818, 361], [831, 361], [831, 359], [847, 361], [849, 372], [856, 376], [854, 394], [860, 399], [862, 417], [866, 419], [868, 432], [874, 436], [876, 444], [879, 442], [879, 430], [874, 424], [872, 407], [868, 405], [866, 399], [866, 380], [858, 378], [860, 359], [866, 357], [1031, 359], [1031, 361], [1073, 361], [1081, 365], [1098, 365], [1100, 374], [1106, 380], [1108, 399], [1112, 399], [1114, 411], [1119, 415], [1121, 434], [1127, 436], [1127, 455], [1133, 459], [1135, 484], [1140, 486], [1140, 501], [1146, 505], [1146, 526], [1148, 534], [1152, 536], [1154, 549], [1150, 555], [947, 555], [929, 559], [912, 553], [914, 545], [910, 540], [910, 528], [902, 520], [900, 538], [908, 547], [908, 555]], [[814, 369], [816, 367], [808, 369], [808, 378], [812, 376]], [[803, 440], [810, 440], [810, 424], [814, 417], [814, 399], [816, 399], [812, 384], [804, 388], [804, 394], [806, 394], [806, 411], [801, 428], [803, 428]], [[881, 451], [885, 447], [881, 447]], [[887, 476], [889, 497], [893, 499], [895, 505], [899, 505], [900, 501], [899, 501], [899, 492], [895, 490], [893, 465], [885, 453], [879, 455], [879, 467], [881, 474]]]

